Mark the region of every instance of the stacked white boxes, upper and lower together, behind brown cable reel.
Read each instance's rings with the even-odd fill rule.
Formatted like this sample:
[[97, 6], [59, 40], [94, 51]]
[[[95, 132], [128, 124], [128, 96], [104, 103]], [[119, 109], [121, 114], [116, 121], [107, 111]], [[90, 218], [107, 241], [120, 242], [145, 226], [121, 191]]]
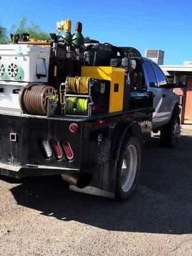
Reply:
[[19, 90], [47, 83], [50, 49], [29, 44], [0, 45], [0, 109], [20, 111]]

